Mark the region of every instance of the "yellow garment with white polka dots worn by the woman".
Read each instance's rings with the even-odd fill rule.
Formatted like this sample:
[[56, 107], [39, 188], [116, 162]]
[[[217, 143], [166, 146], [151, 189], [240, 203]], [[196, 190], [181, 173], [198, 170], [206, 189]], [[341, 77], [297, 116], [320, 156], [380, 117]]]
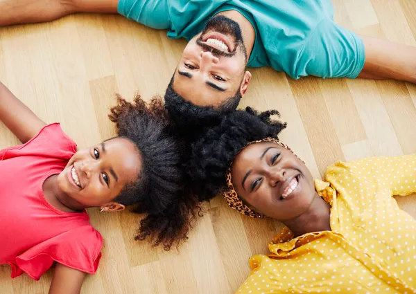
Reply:
[[416, 192], [416, 154], [335, 163], [315, 188], [331, 231], [284, 228], [237, 293], [416, 293], [416, 221], [392, 198]]

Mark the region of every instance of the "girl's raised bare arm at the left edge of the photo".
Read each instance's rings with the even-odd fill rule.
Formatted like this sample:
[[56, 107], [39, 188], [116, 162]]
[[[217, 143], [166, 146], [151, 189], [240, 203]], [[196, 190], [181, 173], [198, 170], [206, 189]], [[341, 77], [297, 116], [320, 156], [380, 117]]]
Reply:
[[0, 82], [0, 121], [21, 141], [31, 140], [46, 125]]

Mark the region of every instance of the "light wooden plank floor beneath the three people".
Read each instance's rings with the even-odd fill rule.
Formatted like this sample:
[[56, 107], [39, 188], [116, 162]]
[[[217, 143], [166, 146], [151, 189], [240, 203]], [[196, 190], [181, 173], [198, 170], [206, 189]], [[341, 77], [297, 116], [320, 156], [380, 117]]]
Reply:
[[[415, 0], [333, 0], [336, 21], [363, 35], [416, 46]], [[0, 12], [1, 13], [1, 12]], [[184, 40], [171, 40], [121, 16], [76, 15], [50, 24], [0, 28], [0, 80], [43, 120], [87, 147], [109, 138], [112, 94], [163, 94]], [[372, 80], [291, 80], [270, 68], [252, 70], [241, 107], [279, 109], [281, 139], [316, 177], [335, 160], [416, 151], [416, 86]], [[0, 125], [0, 148], [17, 140]], [[416, 198], [399, 199], [416, 216]], [[3, 203], [3, 205], [5, 205]], [[277, 222], [241, 217], [214, 199], [179, 252], [133, 241], [137, 218], [89, 210], [105, 238], [98, 273], [83, 294], [227, 294], [247, 277], [248, 259], [266, 253]], [[51, 271], [34, 282], [10, 279], [0, 266], [1, 294], [47, 293]]]

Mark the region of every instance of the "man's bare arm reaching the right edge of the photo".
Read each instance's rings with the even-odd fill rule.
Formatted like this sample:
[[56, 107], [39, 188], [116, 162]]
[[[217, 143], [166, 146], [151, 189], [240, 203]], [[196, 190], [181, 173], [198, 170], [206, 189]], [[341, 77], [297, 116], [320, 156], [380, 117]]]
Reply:
[[416, 47], [361, 36], [365, 64], [358, 77], [402, 80], [416, 84]]

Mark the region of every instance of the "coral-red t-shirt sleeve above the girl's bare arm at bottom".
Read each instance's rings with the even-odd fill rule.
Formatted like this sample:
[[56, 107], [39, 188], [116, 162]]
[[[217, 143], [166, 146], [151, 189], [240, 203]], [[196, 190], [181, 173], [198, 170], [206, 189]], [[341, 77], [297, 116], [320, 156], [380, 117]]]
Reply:
[[64, 232], [17, 256], [15, 277], [27, 273], [29, 277], [38, 280], [54, 261], [94, 274], [101, 259], [102, 247], [103, 237], [92, 226]]

